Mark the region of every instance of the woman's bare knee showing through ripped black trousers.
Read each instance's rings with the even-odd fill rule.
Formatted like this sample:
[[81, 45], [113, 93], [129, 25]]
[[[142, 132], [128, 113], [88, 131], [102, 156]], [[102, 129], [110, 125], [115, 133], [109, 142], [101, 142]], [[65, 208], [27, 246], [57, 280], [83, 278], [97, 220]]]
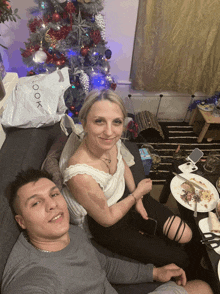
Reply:
[[170, 216], [164, 224], [163, 233], [178, 243], [188, 243], [192, 239], [189, 226], [178, 216]]

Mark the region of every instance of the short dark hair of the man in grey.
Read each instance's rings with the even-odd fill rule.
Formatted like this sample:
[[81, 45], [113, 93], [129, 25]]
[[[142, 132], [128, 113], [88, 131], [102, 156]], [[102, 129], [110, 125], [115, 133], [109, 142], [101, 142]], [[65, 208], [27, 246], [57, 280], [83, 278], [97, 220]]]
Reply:
[[9, 197], [9, 203], [14, 215], [17, 214], [15, 202], [17, 199], [18, 190], [24, 185], [31, 182], [37, 182], [38, 180], [42, 178], [47, 178], [48, 180], [53, 181], [53, 176], [45, 170], [29, 168], [26, 171], [22, 170], [17, 174], [17, 176], [15, 177], [15, 180], [11, 182], [10, 184], [10, 197]]

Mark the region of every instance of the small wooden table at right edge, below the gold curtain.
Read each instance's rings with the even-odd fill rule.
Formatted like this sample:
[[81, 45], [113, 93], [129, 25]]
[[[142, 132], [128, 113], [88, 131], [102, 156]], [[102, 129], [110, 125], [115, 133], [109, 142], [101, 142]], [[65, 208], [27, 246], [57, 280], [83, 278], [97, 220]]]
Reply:
[[200, 143], [202, 142], [206, 132], [208, 131], [208, 128], [210, 124], [220, 124], [220, 117], [215, 117], [212, 115], [211, 111], [204, 111], [198, 108], [198, 106], [193, 110], [192, 115], [189, 120], [189, 125], [193, 125], [196, 119], [196, 116], [200, 112], [205, 120], [205, 124], [199, 134], [199, 137], [197, 139], [197, 142]]

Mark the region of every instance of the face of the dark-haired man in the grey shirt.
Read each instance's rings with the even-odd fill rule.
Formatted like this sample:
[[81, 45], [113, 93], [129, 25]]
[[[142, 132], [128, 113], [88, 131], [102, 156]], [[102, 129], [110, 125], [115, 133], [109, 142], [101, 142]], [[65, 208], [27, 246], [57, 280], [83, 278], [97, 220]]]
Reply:
[[19, 188], [17, 195], [19, 214], [15, 218], [31, 241], [53, 241], [68, 234], [67, 204], [52, 181], [30, 182]]

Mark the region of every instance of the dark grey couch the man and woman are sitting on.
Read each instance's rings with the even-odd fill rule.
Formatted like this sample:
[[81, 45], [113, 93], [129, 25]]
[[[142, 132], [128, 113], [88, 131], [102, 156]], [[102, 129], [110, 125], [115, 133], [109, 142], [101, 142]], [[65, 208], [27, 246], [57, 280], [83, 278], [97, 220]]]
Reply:
[[[53, 165], [54, 160], [59, 159], [59, 154], [66, 140], [67, 137], [61, 131], [59, 123], [41, 128], [10, 128], [6, 130], [6, 139], [0, 150], [0, 285], [7, 258], [20, 234], [20, 229], [8, 203], [9, 184], [19, 171], [29, 167], [40, 169], [43, 164], [44, 167], [47, 165], [49, 169], [53, 168], [47, 164], [47, 160], [45, 162], [45, 158], [50, 157], [53, 160]], [[131, 167], [131, 170], [136, 183], [138, 183], [145, 177], [139, 150], [135, 143], [127, 141], [125, 145], [135, 157], [136, 164]], [[56, 177], [56, 174], [54, 176]], [[115, 256], [94, 241], [92, 243], [101, 252]], [[148, 288], [146, 285], [118, 285], [115, 287], [119, 293], [143, 294], [152, 291], [156, 286], [157, 283], [148, 284]]]

